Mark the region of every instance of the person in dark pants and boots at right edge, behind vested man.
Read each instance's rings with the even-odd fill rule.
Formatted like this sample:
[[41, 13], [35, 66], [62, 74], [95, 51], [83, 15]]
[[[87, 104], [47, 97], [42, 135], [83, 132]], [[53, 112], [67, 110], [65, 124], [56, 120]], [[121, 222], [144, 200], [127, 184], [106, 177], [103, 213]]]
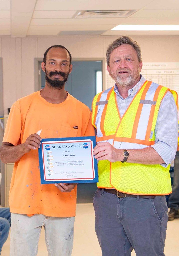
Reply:
[[169, 196], [168, 205], [170, 208], [170, 211], [168, 212], [169, 220], [178, 219], [179, 218], [179, 213], [178, 213], [178, 209], [179, 209], [179, 121], [178, 121], [178, 145], [177, 145], [177, 151], [174, 159], [172, 194]]

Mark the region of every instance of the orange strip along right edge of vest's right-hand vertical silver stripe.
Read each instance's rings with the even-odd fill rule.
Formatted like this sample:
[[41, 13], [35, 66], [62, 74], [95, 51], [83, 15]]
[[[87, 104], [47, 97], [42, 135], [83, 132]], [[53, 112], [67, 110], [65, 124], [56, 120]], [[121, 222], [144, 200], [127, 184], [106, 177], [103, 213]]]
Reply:
[[[155, 91], [155, 94], [154, 94], [154, 97], [153, 97], [153, 101], [157, 101], [161, 89], [162, 89], [162, 86], [159, 85], [159, 87]], [[166, 94], [166, 92], [165, 92], [165, 94]], [[153, 121], [153, 116], [154, 116], [154, 112], [155, 112], [155, 106], [156, 105], [152, 105], [151, 106], [150, 115], [149, 115], [149, 121], [148, 121], [147, 131], [146, 131], [146, 137], [145, 137], [146, 141], [149, 140], [149, 138], [150, 138], [150, 133], [151, 133], [151, 129], [152, 129], [152, 121]]]

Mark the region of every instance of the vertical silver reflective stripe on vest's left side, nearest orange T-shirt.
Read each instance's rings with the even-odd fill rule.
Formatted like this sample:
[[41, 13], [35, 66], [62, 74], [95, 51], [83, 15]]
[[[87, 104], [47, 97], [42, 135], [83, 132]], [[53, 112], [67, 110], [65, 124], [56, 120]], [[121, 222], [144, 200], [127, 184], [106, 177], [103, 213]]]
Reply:
[[[99, 102], [101, 101], [106, 101], [107, 99], [107, 94], [108, 92], [111, 90], [111, 88], [107, 89], [106, 91], [104, 91], [102, 94], [101, 94], [101, 98], [99, 100]], [[98, 104], [98, 112], [97, 112], [97, 116], [96, 116], [96, 122], [95, 122], [95, 126], [96, 126], [96, 129], [97, 129], [97, 137], [103, 137], [103, 134], [101, 132], [101, 127], [100, 127], [100, 123], [101, 123], [101, 116], [102, 116], [102, 113], [103, 113], [103, 110], [104, 110], [104, 107], [105, 107], [105, 104], [101, 105], [101, 104]]]

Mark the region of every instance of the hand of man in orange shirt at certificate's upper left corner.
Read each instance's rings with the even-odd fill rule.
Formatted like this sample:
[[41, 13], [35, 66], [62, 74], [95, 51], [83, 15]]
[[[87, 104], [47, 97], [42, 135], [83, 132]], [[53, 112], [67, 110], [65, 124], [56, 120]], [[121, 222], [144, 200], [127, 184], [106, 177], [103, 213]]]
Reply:
[[36, 150], [37, 148], [40, 148], [41, 140], [41, 137], [37, 135], [37, 133], [31, 134], [26, 142], [21, 144], [24, 153], [29, 153], [31, 149]]

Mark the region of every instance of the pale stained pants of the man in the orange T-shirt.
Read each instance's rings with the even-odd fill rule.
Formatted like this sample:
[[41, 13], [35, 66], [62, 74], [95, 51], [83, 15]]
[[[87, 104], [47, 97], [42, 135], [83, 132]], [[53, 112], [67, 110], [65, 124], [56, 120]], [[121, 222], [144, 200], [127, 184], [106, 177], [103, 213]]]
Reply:
[[42, 226], [49, 256], [71, 256], [75, 217], [11, 213], [10, 256], [36, 256]]

